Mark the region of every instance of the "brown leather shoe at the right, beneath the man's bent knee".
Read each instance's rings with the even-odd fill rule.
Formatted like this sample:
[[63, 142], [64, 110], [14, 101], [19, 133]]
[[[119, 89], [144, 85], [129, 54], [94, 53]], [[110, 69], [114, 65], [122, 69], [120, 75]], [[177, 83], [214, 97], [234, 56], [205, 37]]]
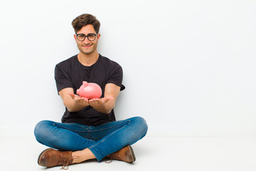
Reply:
[[134, 162], [136, 160], [132, 147], [130, 145], [118, 150], [117, 152], [109, 155], [109, 158], [112, 160], [122, 160], [124, 162]]

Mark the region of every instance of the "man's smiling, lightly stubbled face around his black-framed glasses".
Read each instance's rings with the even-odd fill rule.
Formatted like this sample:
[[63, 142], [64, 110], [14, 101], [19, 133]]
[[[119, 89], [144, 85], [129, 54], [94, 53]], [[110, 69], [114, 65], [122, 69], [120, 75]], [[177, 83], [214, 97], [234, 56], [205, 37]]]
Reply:
[[[83, 26], [81, 30], [77, 31], [77, 34], [81, 34], [81, 33], [87, 36], [89, 33], [96, 34], [96, 31], [94, 30], [94, 27], [92, 26], [92, 24], [89, 24], [87, 26]], [[97, 44], [99, 41], [99, 36], [100, 34], [96, 36], [94, 41], [89, 41], [87, 37], [84, 39], [84, 41], [79, 41], [77, 39], [77, 35], [74, 34], [74, 39], [77, 41], [77, 47], [79, 48], [79, 51], [81, 53], [90, 54], [96, 51]]]

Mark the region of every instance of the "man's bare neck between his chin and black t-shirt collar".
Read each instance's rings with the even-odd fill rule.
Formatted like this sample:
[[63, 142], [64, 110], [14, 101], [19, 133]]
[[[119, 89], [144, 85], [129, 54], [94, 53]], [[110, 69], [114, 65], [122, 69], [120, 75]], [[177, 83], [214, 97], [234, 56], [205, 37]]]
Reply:
[[92, 66], [94, 63], [98, 61], [99, 53], [97, 51], [94, 51], [94, 53], [90, 53], [90, 54], [84, 54], [80, 52], [77, 58], [78, 58], [78, 61], [82, 63], [82, 65]]

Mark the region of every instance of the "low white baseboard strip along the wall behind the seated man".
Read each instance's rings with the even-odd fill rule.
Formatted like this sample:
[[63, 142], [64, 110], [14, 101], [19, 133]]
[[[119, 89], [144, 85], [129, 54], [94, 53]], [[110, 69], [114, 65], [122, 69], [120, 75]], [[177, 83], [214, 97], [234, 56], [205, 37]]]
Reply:
[[[150, 128], [147, 136], [166, 137], [251, 137], [256, 136], [256, 127], [212, 128]], [[34, 137], [34, 128], [1, 128], [0, 137]]]

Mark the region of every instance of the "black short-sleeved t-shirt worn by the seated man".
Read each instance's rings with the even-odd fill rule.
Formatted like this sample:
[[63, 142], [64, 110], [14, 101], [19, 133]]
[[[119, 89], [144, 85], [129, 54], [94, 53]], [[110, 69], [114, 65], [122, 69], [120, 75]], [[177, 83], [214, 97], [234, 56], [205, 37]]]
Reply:
[[[122, 67], [109, 58], [99, 55], [99, 59], [92, 66], [83, 66], [77, 55], [68, 58], [55, 67], [55, 81], [58, 92], [64, 88], [73, 88], [74, 93], [82, 86], [83, 81], [97, 83], [102, 88], [102, 97], [107, 83], [114, 83], [124, 90], [122, 85]], [[84, 125], [102, 125], [115, 120], [114, 110], [109, 114], [99, 113], [91, 106], [77, 112], [67, 110], [61, 118], [62, 123], [80, 123]]]

